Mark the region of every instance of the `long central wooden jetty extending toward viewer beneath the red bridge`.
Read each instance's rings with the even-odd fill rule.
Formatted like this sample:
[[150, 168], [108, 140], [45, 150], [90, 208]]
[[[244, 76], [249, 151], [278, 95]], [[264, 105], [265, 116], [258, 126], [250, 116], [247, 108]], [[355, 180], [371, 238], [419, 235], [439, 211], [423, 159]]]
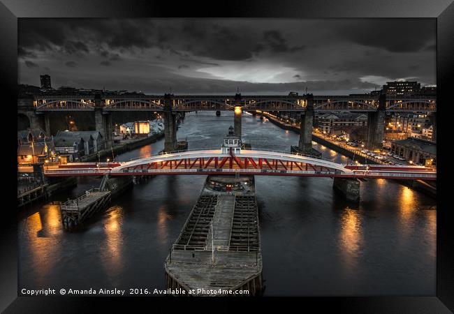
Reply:
[[[223, 185], [224, 190], [219, 188]], [[213, 190], [213, 186], [217, 188]], [[194, 296], [263, 293], [254, 177], [207, 178], [164, 268], [171, 293], [173, 290], [184, 290], [186, 295]], [[242, 293], [235, 294], [240, 290]]]

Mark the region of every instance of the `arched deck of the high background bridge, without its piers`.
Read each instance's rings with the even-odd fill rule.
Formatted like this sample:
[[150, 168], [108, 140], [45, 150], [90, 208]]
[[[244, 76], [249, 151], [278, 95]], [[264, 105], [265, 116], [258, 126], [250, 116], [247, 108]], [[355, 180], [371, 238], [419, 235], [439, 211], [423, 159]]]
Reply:
[[[186, 96], [35, 96], [37, 112], [51, 111], [94, 111], [102, 107], [105, 112], [113, 111], [173, 111], [243, 110], [298, 111], [305, 112], [310, 95], [304, 96], [236, 96], [186, 95]], [[313, 96], [314, 110], [321, 112], [355, 111], [375, 112], [379, 109], [378, 96]], [[434, 112], [437, 100], [434, 96], [409, 96], [386, 98], [386, 112]]]

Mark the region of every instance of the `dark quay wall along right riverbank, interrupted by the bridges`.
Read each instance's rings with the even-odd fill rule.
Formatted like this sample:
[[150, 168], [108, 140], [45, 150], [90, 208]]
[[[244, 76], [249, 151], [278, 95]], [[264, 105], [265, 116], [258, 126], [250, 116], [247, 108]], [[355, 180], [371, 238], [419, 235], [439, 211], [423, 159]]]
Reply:
[[[293, 125], [293, 124], [288, 124], [284, 121], [281, 121], [281, 119], [277, 117], [272, 117], [270, 114], [263, 114], [261, 113], [262, 116], [266, 117], [272, 124], [275, 124], [276, 126], [279, 126], [280, 128], [283, 128], [284, 130], [292, 130], [295, 133], [300, 133], [300, 129]], [[338, 144], [335, 144], [331, 142], [330, 140], [326, 140], [325, 138], [322, 137], [322, 135], [316, 135], [312, 133], [312, 140], [314, 142], [317, 142], [318, 144], [322, 144], [325, 147], [328, 147], [332, 149], [333, 151], [337, 151], [337, 153], [342, 154], [343, 156], [349, 157], [352, 160], [358, 160], [358, 163], [369, 163], [369, 164], [383, 164], [381, 160], [376, 160], [372, 159], [373, 157], [367, 156], [360, 151], [354, 151], [353, 149], [349, 149], [349, 147], [345, 146], [339, 146]], [[425, 193], [426, 195], [429, 195], [431, 197], [437, 197], [437, 188], [433, 186], [430, 183], [427, 183], [423, 180], [395, 180], [399, 184], [403, 184], [404, 186], [408, 186], [409, 188], [413, 188], [414, 190], [418, 190], [422, 193]]]

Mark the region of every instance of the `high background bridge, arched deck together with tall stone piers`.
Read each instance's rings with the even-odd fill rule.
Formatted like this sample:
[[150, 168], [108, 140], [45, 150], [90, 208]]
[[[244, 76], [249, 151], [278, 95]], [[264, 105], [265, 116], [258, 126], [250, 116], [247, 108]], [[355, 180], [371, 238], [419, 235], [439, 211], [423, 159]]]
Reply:
[[[28, 105], [27, 105], [28, 104]], [[303, 154], [312, 151], [312, 126], [314, 112], [352, 111], [367, 114], [368, 132], [367, 147], [380, 148], [383, 140], [386, 112], [432, 112], [432, 119], [437, 111], [437, 100], [434, 96], [411, 96], [386, 98], [385, 95], [350, 95], [350, 96], [235, 96], [226, 95], [185, 95], [175, 96], [56, 96], [36, 95], [29, 101], [18, 104], [18, 114], [29, 117], [30, 126], [44, 126], [50, 133], [50, 112], [94, 112], [96, 130], [105, 139], [107, 146], [112, 145], [112, 112], [163, 112], [165, 126], [165, 151], [177, 149], [177, 112], [191, 111], [225, 111], [235, 112], [235, 133], [241, 137], [242, 111], [298, 112], [301, 118], [300, 141], [298, 149]], [[433, 137], [436, 138], [436, 124], [433, 119]]]

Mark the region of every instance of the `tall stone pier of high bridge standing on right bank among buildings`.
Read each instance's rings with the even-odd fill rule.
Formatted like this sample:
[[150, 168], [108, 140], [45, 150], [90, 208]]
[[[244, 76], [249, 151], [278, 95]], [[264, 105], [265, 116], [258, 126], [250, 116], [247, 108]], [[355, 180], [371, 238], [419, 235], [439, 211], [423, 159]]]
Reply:
[[386, 96], [380, 95], [379, 109], [367, 114], [367, 148], [381, 149], [385, 133]]

